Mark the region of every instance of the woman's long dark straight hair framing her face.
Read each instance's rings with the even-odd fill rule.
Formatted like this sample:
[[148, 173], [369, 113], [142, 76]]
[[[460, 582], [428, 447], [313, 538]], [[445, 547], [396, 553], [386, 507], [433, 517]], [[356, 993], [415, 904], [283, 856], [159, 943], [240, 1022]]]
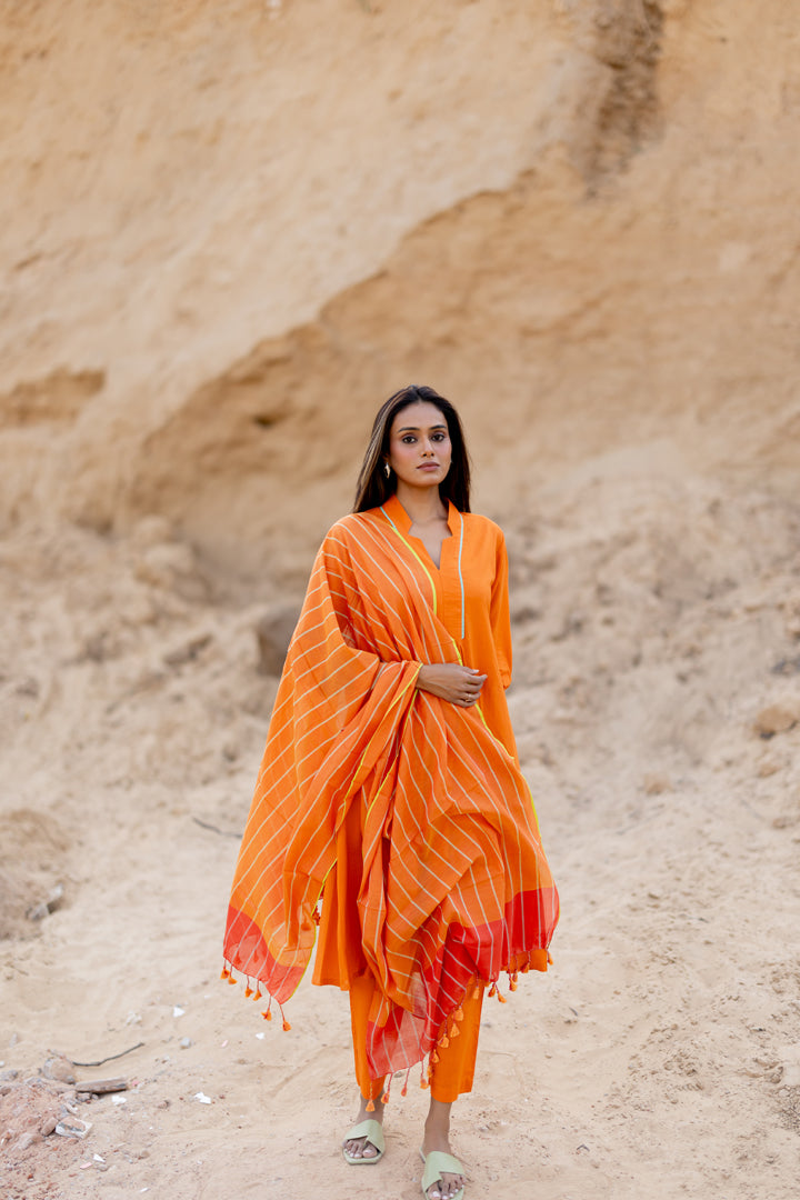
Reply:
[[444, 396], [440, 396], [433, 388], [409, 384], [401, 388], [393, 396], [390, 396], [385, 404], [381, 404], [372, 426], [372, 436], [367, 452], [363, 456], [359, 482], [355, 488], [354, 512], [366, 512], [367, 509], [377, 509], [384, 504], [390, 496], [397, 491], [397, 476], [390, 472], [389, 478], [384, 472], [384, 463], [389, 454], [389, 437], [392, 421], [409, 404], [417, 404], [425, 401], [434, 404], [447, 422], [447, 432], [452, 445], [452, 457], [450, 470], [439, 484], [439, 496], [443, 500], [452, 500], [459, 512], [469, 512], [469, 455], [464, 442], [464, 431], [461, 427], [458, 413]]

